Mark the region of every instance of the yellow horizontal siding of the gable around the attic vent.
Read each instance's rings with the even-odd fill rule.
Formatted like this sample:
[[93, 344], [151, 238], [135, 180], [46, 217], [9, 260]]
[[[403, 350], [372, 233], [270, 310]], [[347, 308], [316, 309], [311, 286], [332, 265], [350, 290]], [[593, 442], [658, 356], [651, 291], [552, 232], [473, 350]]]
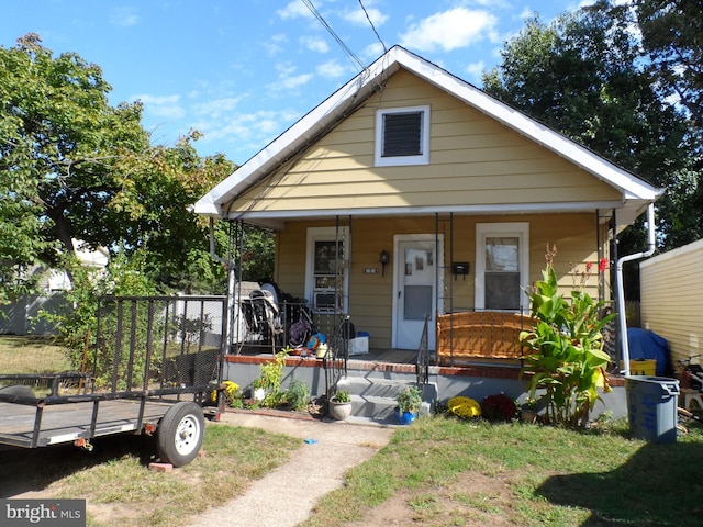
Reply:
[[[375, 167], [377, 109], [431, 105], [429, 165]], [[236, 210], [304, 211], [620, 200], [556, 154], [403, 70]]]

